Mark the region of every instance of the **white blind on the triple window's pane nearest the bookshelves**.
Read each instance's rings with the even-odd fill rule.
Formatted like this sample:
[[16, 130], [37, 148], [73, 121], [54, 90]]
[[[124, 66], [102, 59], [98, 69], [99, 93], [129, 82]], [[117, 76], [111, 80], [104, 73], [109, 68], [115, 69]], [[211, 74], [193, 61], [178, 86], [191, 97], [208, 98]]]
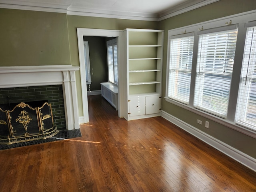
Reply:
[[168, 97], [188, 104], [194, 36], [170, 40]]

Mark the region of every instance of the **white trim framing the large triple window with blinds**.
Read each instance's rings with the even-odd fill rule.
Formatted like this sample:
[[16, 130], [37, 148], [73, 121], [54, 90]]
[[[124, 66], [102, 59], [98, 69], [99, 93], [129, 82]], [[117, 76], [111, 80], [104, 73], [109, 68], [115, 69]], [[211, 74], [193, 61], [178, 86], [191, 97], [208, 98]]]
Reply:
[[[169, 46], [169, 40], [173, 38], [176, 35], [182, 34], [182, 33], [190, 33], [194, 32], [195, 33], [195, 39], [194, 43], [197, 44], [198, 42], [198, 32], [202, 31], [202, 29], [213, 29], [213, 28], [218, 28], [218, 27], [223, 27], [226, 26], [226, 24], [229, 24], [230, 21], [232, 24], [238, 24], [238, 39], [237, 42], [240, 43], [239, 46], [237, 46], [236, 50], [236, 56], [234, 63], [236, 64], [236, 72], [233, 72], [233, 77], [239, 76], [240, 73], [238, 74], [237, 69], [242, 67], [242, 57], [243, 57], [243, 52], [244, 52], [244, 40], [246, 36], [246, 28], [244, 28], [245, 24], [254, 21], [256, 18], [256, 11], [250, 11], [250, 12], [245, 12], [242, 14], [236, 14], [233, 16], [227, 16], [224, 18], [218, 18], [216, 20], [210, 20], [207, 22], [202, 22], [198, 24], [193, 24], [190, 26], [185, 26], [181, 28], [176, 28], [173, 30], [168, 30], [168, 50], [167, 53], [170, 52], [170, 46]], [[202, 33], [202, 32], [201, 32]], [[198, 44], [194, 46], [193, 50], [194, 55], [197, 55], [198, 53]], [[194, 112], [200, 116], [204, 116], [208, 118], [209, 120], [213, 120], [215, 122], [218, 122], [224, 126], [227, 126], [229, 128], [232, 128], [234, 130], [237, 130], [239, 132], [242, 132], [248, 136], [251, 136], [253, 138], [256, 138], [256, 131], [252, 130], [250, 128], [246, 128], [243, 126], [240, 126], [238, 124], [234, 123], [234, 118], [235, 118], [235, 112], [236, 112], [236, 105], [237, 103], [237, 96], [238, 96], [238, 88], [239, 88], [239, 82], [240, 78], [232, 78], [231, 82], [231, 89], [230, 89], [230, 102], [228, 106], [228, 115], [226, 119], [220, 118], [218, 116], [212, 115], [208, 112], [204, 112], [202, 110], [198, 110], [194, 108], [193, 102], [194, 102], [194, 89], [195, 89], [195, 78], [196, 78], [196, 57], [193, 57], [192, 61], [192, 74], [191, 74], [191, 88], [190, 88], [190, 102], [188, 105], [182, 104], [181, 102], [172, 100], [168, 98], [168, 72], [169, 72], [169, 58], [170, 56], [167, 54], [167, 65], [166, 65], [166, 96], [164, 97], [167, 102], [170, 102], [172, 104], [175, 104], [177, 106], [180, 106], [186, 110], [189, 110], [191, 112]], [[233, 105], [233, 106], [232, 106]]]

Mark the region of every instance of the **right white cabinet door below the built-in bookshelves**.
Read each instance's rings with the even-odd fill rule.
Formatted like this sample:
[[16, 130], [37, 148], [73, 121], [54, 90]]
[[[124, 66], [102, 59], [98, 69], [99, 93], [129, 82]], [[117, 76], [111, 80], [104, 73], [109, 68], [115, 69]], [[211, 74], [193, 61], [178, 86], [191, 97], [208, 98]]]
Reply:
[[146, 96], [145, 108], [146, 108], [146, 115], [159, 113], [161, 109], [161, 98], [159, 98], [159, 96]]

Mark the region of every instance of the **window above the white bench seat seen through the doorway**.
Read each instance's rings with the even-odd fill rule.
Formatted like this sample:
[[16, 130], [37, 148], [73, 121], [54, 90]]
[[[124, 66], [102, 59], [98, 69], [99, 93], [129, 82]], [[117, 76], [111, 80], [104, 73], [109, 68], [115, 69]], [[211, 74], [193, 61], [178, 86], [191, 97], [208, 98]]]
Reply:
[[116, 38], [107, 41], [108, 52], [108, 81], [118, 85], [118, 62]]

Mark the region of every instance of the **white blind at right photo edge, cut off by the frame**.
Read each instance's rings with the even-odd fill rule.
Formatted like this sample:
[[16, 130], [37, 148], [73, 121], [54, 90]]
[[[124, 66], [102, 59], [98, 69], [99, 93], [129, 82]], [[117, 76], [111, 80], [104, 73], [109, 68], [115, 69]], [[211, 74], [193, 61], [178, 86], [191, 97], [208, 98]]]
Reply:
[[256, 130], [256, 26], [247, 29], [235, 122]]

